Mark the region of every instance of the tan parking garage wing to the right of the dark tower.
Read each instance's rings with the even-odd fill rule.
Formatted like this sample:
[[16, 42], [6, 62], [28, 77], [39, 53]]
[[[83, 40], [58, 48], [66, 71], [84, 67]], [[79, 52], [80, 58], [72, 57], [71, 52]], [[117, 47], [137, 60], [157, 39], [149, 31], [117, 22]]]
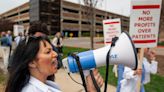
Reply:
[[[83, 5], [62, 1], [61, 3], [61, 29], [64, 34], [73, 33], [74, 36], [90, 36], [91, 26], [88, 21], [87, 8]], [[95, 9], [94, 36], [103, 35], [102, 20], [121, 18], [122, 30], [128, 31], [129, 18]]]

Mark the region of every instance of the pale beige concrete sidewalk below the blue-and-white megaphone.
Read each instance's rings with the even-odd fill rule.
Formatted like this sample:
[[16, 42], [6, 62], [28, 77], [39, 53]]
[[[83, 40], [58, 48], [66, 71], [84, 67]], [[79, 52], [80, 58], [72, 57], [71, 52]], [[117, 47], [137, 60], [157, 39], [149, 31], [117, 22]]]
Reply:
[[[81, 82], [80, 75], [75, 73], [71, 74], [71, 76], [78, 82]], [[58, 70], [55, 74], [56, 83], [59, 84], [62, 92], [85, 92], [83, 86], [75, 83], [71, 78], [68, 76], [67, 72], [64, 69]], [[104, 86], [101, 88], [101, 91], [104, 90]], [[114, 86], [108, 85], [107, 92], [116, 92], [116, 88]]]

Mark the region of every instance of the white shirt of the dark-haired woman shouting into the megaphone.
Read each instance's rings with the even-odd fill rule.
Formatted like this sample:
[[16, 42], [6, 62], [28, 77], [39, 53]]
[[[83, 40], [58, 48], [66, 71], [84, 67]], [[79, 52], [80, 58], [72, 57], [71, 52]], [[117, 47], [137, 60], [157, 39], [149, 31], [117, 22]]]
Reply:
[[29, 83], [21, 92], [61, 92], [60, 88], [53, 81], [46, 81], [46, 84], [40, 80], [30, 77]]

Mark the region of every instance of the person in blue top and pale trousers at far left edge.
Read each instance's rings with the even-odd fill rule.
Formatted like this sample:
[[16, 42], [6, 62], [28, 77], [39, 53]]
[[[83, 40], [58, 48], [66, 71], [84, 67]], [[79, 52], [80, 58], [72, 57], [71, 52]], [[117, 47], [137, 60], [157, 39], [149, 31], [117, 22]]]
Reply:
[[9, 59], [9, 53], [10, 53], [10, 46], [9, 46], [9, 39], [6, 36], [6, 32], [1, 32], [1, 53], [4, 63], [4, 72], [7, 73], [7, 66], [8, 66], [8, 59]]

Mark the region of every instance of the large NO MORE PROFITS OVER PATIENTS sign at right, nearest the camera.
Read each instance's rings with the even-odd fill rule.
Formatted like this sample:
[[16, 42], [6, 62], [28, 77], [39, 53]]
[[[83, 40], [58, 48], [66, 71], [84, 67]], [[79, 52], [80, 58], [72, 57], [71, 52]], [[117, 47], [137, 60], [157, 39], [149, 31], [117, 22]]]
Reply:
[[132, 0], [130, 36], [137, 48], [156, 47], [161, 0]]

